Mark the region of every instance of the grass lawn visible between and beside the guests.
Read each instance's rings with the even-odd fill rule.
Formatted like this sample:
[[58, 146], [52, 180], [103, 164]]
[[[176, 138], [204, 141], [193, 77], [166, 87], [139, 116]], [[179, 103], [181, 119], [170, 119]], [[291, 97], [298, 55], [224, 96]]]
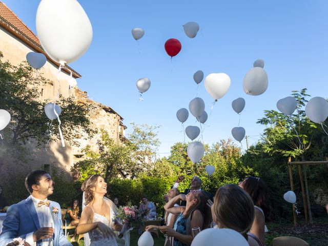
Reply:
[[[138, 229], [139, 224], [133, 224], [134, 229], [130, 232], [130, 245], [137, 246], [138, 245]], [[289, 223], [268, 223], [268, 229], [270, 232], [265, 233], [265, 246], [272, 246], [272, 240], [275, 237], [279, 236], [293, 236], [302, 238], [306, 242], [308, 242], [311, 246], [327, 246], [328, 245], [328, 217], [321, 219], [314, 219], [313, 225], [305, 225], [303, 220], [299, 221], [299, 225], [295, 228], [293, 222]], [[152, 234], [154, 238], [154, 246], [163, 246], [165, 242], [165, 238], [163, 234], [159, 233], [159, 238], [155, 234]], [[71, 237], [69, 236], [69, 240]], [[77, 240], [77, 236], [76, 236]], [[74, 246], [83, 246], [83, 239], [80, 240], [80, 243], [77, 242], [72, 243]], [[210, 246], [210, 245], [208, 245]]]

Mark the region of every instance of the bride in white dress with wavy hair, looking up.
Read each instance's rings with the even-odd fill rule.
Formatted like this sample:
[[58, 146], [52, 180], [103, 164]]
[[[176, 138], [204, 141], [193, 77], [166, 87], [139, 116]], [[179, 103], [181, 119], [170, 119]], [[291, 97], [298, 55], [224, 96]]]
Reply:
[[117, 246], [114, 231], [121, 231], [122, 224], [113, 222], [114, 203], [104, 198], [106, 193], [104, 178], [92, 175], [86, 183], [86, 207], [76, 230], [78, 234], [89, 233], [90, 246]]

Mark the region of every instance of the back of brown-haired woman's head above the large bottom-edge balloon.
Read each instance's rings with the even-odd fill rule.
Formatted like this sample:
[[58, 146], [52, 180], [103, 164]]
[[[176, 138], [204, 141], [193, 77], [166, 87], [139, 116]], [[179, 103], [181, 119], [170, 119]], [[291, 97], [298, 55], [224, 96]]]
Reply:
[[225, 185], [216, 191], [212, 217], [218, 228], [235, 230], [247, 239], [254, 216], [252, 198], [237, 185]]

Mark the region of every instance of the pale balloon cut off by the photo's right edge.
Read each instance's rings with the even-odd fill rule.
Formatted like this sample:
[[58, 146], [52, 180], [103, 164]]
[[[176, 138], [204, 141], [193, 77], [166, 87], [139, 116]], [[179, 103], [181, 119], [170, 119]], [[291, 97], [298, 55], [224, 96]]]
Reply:
[[305, 106], [305, 114], [313, 122], [321, 124], [328, 117], [328, 102], [320, 96], [311, 98]]

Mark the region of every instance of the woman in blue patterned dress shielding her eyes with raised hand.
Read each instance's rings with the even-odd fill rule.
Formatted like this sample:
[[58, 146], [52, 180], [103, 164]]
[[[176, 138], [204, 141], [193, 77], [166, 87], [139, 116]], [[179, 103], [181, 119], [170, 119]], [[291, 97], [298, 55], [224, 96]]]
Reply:
[[[193, 190], [187, 195], [180, 194], [172, 198], [164, 209], [177, 215], [173, 229], [162, 230], [167, 236], [174, 237], [174, 246], [190, 245], [193, 238], [192, 229], [199, 227], [204, 230], [210, 226], [211, 210], [207, 206], [207, 195], [200, 190]], [[180, 200], [186, 201], [186, 207], [174, 207]]]

